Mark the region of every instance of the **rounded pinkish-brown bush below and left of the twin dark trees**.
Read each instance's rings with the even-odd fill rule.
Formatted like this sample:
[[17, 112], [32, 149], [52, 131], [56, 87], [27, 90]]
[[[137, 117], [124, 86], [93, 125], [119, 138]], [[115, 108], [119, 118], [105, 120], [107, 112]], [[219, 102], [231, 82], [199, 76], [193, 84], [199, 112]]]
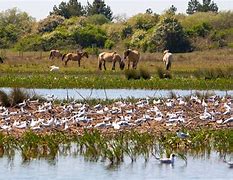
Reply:
[[64, 22], [64, 17], [60, 15], [50, 15], [47, 18], [38, 22], [38, 32], [51, 32], [53, 31], [58, 25]]

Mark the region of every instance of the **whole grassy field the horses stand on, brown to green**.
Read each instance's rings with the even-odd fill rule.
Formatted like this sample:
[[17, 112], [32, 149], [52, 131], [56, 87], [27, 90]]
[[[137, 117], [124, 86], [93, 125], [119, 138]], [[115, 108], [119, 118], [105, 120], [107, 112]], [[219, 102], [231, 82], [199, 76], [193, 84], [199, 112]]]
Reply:
[[[146, 89], [233, 89], [233, 51], [192, 52], [174, 54], [171, 76], [163, 78], [161, 53], [142, 53], [139, 68], [150, 79], [128, 80], [127, 73], [99, 71], [97, 57], [90, 56], [77, 62], [48, 60], [48, 52], [4, 51], [5, 61], [0, 65], [1, 87], [27, 88], [146, 88]], [[50, 66], [58, 66], [59, 72], [50, 72]], [[165, 76], [166, 77], [166, 76]]]

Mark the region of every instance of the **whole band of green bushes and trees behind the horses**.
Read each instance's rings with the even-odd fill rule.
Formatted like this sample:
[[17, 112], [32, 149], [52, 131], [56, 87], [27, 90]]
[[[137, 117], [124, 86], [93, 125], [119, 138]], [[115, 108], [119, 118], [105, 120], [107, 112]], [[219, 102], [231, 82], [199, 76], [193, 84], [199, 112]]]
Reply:
[[[113, 17], [103, 0], [82, 6], [77, 0], [55, 5], [50, 15], [36, 22], [18, 9], [0, 13], [0, 48], [20, 51], [89, 48], [136, 48], [155, 52], [188, 52], [231, 47], [233, 13], [218, 12], [210, 0], [188, 3], [188, 15], [172, 5], [163, 14], [151, 8], [129, 19]], [[208, 7], [208, 8], [207, 8]], [[114, 18], [114, 21], [112, 21]]]

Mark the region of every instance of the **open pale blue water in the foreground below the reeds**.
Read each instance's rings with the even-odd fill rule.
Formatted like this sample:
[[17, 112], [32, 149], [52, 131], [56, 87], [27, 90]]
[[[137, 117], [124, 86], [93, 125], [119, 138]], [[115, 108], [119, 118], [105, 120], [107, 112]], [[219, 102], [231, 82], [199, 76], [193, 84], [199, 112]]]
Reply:
[[233, 179], [233, 169], [220, 160], [216, 153], [210, 158], [193, 158], [188, 156], [188, 164], [176, 159], [175, 165], [160, 164], [151, 158], [145, 163], [138, 159], [135, 163], [125, 160], [115, 168], [109, 168], [106, 162], [88, 162], [82, 156], [61, 156], [55, 164], [46, 160], [33, 160], [22, 164], [17, 154], [13, 162], [0, 158], [0, 179]]

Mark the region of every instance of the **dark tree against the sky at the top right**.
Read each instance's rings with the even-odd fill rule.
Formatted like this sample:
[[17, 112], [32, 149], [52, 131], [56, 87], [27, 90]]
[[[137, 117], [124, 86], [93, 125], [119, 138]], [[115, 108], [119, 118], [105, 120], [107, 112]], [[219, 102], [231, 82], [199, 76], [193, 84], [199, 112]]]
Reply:
[[195, 12], [218, 12], [218, 6], [212, 0], [203, 0], [201, 4], [198, 0], [190, 0], [188, 2], [187, 14], [193, 14]]

